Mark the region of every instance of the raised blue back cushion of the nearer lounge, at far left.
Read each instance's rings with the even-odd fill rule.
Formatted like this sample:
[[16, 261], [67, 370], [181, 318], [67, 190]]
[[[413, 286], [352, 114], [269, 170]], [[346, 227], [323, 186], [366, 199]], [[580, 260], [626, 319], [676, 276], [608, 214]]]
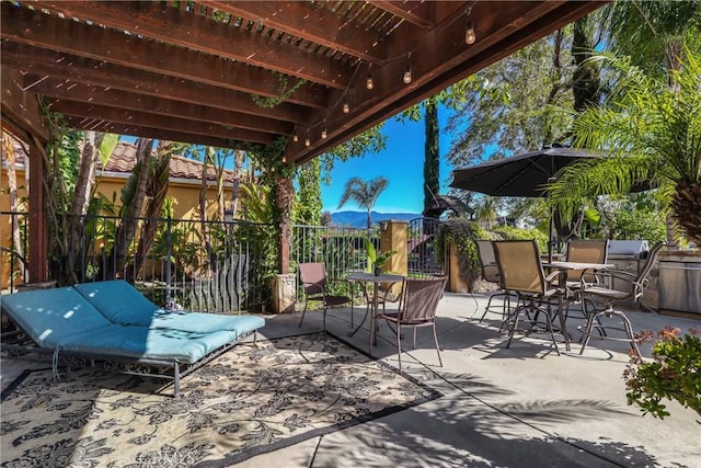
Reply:
[[72, 287], [4, 295], [2, 308], [42, 347], [56, 347], [77, 330], [93, 333], [112, 323]]

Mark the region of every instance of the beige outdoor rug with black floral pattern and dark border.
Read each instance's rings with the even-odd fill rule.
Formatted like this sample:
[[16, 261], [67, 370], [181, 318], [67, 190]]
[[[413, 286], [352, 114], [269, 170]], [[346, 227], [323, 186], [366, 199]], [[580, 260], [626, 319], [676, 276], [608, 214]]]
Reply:
[[228, 466], [440, 397], [323, 333], [235, 346], [180, 398], [152, 378], [71, 377], [32, 370], [5, 389], [3, 467]]

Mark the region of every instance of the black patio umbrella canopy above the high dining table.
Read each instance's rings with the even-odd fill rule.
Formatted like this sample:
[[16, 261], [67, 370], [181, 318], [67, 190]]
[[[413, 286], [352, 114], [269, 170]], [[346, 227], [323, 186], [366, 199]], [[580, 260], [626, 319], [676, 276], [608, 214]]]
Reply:
[[545, 196], [545, 186], [563, 168], [599, 156], [572, 148], [543, 148], [456, 169], [450, 186], [492, 196]]

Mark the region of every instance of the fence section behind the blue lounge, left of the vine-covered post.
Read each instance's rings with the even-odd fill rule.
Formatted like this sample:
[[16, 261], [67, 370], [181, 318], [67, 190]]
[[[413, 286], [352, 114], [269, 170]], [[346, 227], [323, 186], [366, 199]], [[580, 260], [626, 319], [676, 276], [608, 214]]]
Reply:
[[[26, 246], [26, 214], [0, 216], [2, 226], [22, 226]], [[269, 225], [87, 215], [74, 226], [65, 250], [49, 258], [49, 278], [58, 284], [124, 278], [158, 305], [209, 312], [257, 310], [269, 301], [276, 264]], [[2, 283], [14, 292], [27, 278], [9, 236], [2, 231]]]

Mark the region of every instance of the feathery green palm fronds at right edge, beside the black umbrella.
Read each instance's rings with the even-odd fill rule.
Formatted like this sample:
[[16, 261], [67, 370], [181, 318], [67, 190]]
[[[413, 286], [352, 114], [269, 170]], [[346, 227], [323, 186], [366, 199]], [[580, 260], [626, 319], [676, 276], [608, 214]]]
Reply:
[[[575, 146], [609, 155], [573, 164], [551, 186], [558, 208], [574, 213], [583, 197], [627, 193], [651, 180], [666, 196], [671, 218], [701, 246], [701, 64], [682, 48], [667, 79], [651, 77], [630, 58], [600, 55], [613, 83], [608, 105], [589, 107], [574, 126]], [[671, 85], [670, 85], [671, 84]]]

